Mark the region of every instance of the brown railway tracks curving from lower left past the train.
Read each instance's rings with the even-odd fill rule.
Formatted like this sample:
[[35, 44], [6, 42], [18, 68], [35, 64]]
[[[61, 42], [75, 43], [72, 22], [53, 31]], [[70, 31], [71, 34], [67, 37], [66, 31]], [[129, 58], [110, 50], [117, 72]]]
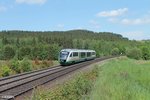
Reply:
[[15, 97], [68, 74], [84, 66], [112, 57], [97, 58], [95, 60], [62, 67], [60, 65], [47, 69], [32, 71], [0, 79], [0, 100], [13, 100]]

